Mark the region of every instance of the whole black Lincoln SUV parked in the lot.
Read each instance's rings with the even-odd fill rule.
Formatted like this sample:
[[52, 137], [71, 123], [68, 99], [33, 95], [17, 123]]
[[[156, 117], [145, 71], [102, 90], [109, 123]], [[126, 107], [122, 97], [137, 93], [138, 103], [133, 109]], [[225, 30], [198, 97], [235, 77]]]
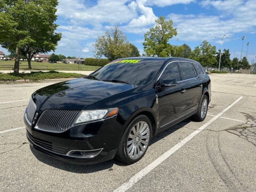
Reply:
[[55, 158], [132, 164], [157, 133], [189, 116], [203, 121], [210, 100], [210, 77], [194, 60], [125, 58], [37, 90], [24, 121], [31, 145]]

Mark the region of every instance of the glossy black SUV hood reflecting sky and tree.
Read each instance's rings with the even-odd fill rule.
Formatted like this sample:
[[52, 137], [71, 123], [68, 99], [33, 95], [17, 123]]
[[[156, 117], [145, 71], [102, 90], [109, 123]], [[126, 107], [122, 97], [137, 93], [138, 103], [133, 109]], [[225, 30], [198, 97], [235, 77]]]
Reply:
[[[33, 93], [33, 100], [41, 110], [81, 110], [112, 95], [131, 90], [134, 85], [78, 78], [43, 87]], [[96, 107], [96, 108], [100, 108]]]

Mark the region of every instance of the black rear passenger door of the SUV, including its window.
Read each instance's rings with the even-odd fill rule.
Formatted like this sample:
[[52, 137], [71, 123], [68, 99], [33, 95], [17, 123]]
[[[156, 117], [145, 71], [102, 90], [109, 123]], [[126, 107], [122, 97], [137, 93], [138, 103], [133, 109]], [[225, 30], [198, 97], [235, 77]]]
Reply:
[[186, 115], [195, 111], [199, 104], [200, 95], [202, 93], [202, 84], [199, 81], [199, 76], [190, 62], [179, 62], [178, 64], [181, 81], [178, 82], [179, 86], [182, 87], [181, 100], [182, 109], [180, 115]]

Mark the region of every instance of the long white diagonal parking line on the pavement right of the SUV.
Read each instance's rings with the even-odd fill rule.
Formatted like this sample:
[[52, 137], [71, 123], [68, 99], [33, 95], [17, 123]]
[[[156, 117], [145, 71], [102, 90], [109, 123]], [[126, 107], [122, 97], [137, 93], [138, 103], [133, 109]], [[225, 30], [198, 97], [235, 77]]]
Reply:
[[148, 174], [150, 171], [155, 169], [159, 164], [161, 164], [165, 159], [170, 157], [175, 151], [180, 149], [183, 145], [185, 145], [188, 141], [193, 139], [199, 132], [204, 130], [207, 126], [209, 126], [211, 123], [213, 123], [216, 119], [218, 119], [221, 115], [223, 115], [228, 109], [233, 107], [239, 100], [241, 100], [243, 97], [239, 97], [236, 101], [234, 101], [231, 105], [229, 105], [226, 109], [222, 110], [218, 115], [215, 115], [213, 118], [211, 118], [208, 122], [206, 122], [204, 125], [199, 127], [198, 130], [194, 131], [188, 137], [181, 140], [179, 143], [177, 143], [175, 146], [173, 146], [171, 149], [167, 150], [163, 155], [158, 157], [154, 162], [147, 165], [144, 169], [136, 173], [129, 181], [123, 183], [120, 187], [115, 189], [114, 191], [126, 191], [130, 189], [135, 183], [137, 183], [140, 179], [142, 179], [146, 174]]

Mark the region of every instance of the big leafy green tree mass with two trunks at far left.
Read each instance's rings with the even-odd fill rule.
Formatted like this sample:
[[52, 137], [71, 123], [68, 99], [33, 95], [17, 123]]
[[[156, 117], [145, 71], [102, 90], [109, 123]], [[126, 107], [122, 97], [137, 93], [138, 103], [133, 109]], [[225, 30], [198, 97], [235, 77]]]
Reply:
[[1, 0], [0, 44], [15, 52], [14, 73], [19, 73], [19, 59], [29, 62], [35, 53], [55, 50], [61, 34], [54, 31], [58, 25], [55, 8], [57, 0]]

